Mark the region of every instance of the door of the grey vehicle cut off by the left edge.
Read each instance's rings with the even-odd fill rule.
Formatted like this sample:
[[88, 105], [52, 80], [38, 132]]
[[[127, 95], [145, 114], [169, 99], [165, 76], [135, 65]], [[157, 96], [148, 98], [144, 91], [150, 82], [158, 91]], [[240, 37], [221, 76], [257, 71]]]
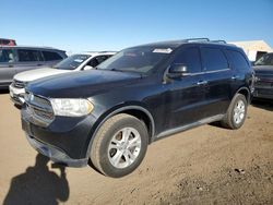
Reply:
[[15, 74], [15, 55], [11, 48], [0, 48], [0, 86], [7, 86]]

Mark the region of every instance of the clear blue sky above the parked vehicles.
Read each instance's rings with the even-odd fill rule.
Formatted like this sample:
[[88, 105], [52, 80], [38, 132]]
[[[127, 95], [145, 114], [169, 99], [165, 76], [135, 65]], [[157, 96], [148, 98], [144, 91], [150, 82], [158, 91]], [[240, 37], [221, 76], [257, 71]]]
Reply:
[[69, 52], [192, 37], [273, 47], [273, 0], [0, 0], [0, 37]]

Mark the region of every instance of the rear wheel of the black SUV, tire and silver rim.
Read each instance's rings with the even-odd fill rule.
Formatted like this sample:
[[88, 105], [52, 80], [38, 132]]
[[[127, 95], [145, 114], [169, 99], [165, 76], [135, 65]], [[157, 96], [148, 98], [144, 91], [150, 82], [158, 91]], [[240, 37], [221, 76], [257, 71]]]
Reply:
[[246, 120], [247, 107], [248, 102], [246, 97], [241, 94], [236, 94], [227, 109], [224, 119], [221, 121], [222, 126], [232, 130], [239, 129]]

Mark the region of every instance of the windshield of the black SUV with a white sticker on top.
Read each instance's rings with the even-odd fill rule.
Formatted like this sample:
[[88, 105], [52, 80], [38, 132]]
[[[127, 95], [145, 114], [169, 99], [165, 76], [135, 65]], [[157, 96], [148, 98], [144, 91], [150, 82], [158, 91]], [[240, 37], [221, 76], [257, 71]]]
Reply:
[[99, 70], [147, 73], [173, 49], [157, 47], [135, 47], [124, 49], [97, 67]]

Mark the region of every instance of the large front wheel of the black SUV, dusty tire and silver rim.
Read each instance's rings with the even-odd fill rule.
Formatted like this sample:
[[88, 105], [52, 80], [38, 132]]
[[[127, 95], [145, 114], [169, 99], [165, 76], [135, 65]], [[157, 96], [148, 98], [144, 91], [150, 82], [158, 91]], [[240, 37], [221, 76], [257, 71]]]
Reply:
[[133, 116], [119, 113], [99, 128], [91, 146], [91, 161], [100, 173], [120, 178], [139, 167], [147, 144], [144, 122]]

